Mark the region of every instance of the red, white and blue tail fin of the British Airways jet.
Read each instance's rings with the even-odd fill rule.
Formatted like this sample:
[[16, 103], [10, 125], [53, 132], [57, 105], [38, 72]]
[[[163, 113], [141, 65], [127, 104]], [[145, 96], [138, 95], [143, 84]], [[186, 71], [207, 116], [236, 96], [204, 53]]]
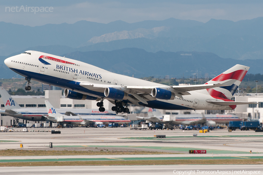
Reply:
[[[236, 64], [230, 69], [224, 71], [222, 74], [216, 76], [212, 80], [208, 81], [205, 84], [216, 84], [216, 83], [225, 83], [231, 82], [229, 86], [222, 86], [217, 88], [207, 89], [207, 92], [216, 99], [231, 99], [236, 92], [241, 81], [248, 72], [249, 67]], [[233, 81], [231, 81], [233, 80]]]

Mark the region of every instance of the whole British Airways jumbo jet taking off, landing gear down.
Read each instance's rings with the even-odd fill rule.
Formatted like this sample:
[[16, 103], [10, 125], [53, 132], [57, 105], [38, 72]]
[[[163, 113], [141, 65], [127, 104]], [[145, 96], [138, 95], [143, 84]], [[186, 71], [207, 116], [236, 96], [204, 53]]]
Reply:
[[238, 104], [233, 101], [236, 89], [249, 67], [235, 65], [203, 85], [167, 86], [115, 74], [70, 58], [28, 50], [7, 58], [7, 67], [30, 80], [65, 88], [65, 97], [97, 100], [99, 111], [105, 111], [103, 100], [115, 106], [113, 111], [129, 112], [127, 104], [165, 110], [225, 110]]

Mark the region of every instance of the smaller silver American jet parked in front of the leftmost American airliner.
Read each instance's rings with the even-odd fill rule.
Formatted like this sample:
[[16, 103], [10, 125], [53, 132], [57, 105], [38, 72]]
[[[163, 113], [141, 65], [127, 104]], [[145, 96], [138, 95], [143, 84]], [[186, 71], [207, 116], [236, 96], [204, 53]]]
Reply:
[[131, 120], [127, 118], [120, 117], [117, 115], [77, 115], [72, 112], [67, 112], [69, 115], [60, 114], [57, 109], [49, 103], [48, 100], [45, 100], [47, 115], [46, 118], [48, 121], [57, 122], [57, 117], [60, 116], [63, 119], [63, 123], [73, 124], [73, 125], [90, 125], [91, 123], [95, 124], [108, 124], [111, 122], [117, 123], [129, 123]]

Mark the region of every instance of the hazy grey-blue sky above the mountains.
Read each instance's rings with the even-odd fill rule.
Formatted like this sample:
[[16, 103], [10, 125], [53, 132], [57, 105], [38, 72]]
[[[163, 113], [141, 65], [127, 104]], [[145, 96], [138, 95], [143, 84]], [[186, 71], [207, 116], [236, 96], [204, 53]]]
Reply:
[[[27, 7], [34, 8], [24, 12], [22, 5], [25, 10]], [[47, 7], [44, 9], [46, 12], [40, 12], [41, 7]], [[19, 10], [20, 12], [17, 12]], [[64, 22], [72, 24], [79, 20], [100, 23], [122, 20], [132, 23], [143, 20], [165, 20], [170, 17], [201, 22], [207, 22], [211, 18], [238, 21], [262, 16], [263, 1], [258, 0], [0, 1], [0, 21], [29, 26]]]

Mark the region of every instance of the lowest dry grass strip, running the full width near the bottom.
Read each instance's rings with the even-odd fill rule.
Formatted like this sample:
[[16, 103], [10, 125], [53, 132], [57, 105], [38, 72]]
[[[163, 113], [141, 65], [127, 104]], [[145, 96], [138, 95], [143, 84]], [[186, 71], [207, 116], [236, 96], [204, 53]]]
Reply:
[[66, 161], [66, 162], [10, 162], [0, 163], [0, 167], [35, 166], [91, 166], [91, 165], [185, 165], [185, 164], [263, 164], [263, 159], [239, 160], [111, 160], [111, 161]]

